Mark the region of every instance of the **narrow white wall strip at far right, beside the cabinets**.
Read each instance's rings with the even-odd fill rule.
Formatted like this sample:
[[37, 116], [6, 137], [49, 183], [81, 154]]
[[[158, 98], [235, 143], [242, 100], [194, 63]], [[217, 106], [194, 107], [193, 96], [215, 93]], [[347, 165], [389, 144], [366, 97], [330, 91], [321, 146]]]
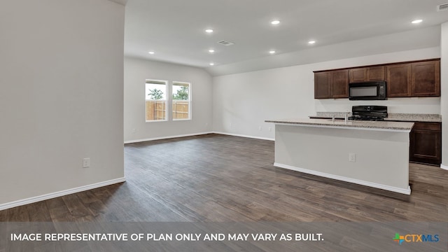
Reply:
[[442, 101], [440, 102], [442, 114], [442, 167], [448, 169], [448, 22], [442, 24], [440, 50], [440, 80]]

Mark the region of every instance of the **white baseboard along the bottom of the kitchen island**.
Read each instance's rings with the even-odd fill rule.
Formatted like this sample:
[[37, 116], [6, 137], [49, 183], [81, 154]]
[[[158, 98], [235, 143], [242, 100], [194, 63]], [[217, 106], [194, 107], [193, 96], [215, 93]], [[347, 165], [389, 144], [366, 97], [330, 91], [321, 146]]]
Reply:
[[383, 189], [383, 190], [388, 190], [391, 192], [395, 192], [395, 193], [402, 193], [405, 195], [410, 195], [411, 194], [411, 188], [408, 186], [407, 189], [405, 188], [397, 188], [394, 186], [386, 186], [386, 185], [382, 185], [379, 183], [372, 183], [369, 181], [361, 181], [358, 179], [351, 179], [351, 178], [347, 178], [344, 176], [337, 176], [337, 175], [333, 175], [333, 174], [327, 174], [327, 173], [323, 173], [323, 172], [316, 172], [313, 170], [309, 170], [309, 169], [303, 169], [303, 168], [298, 168], [298, 167], [293, 167], [290, 165], [283, 165], [283, 164], [279, 164], [279, 163], [274, 163], [275, 167], [280, 167], [280, 168], [284, 168], [284, 169], [290, 169], [296, 172], [303, 172], [306, 174], [312, 174], [312, 175], [316, 175], [316, 176], [322, 176], [328, 179], [336, 179], [339, 181], [345, 181], [345, 182], [349, 182], [349, 183], [356, 183], [358, 185], [362, 185], [362, 186], [370, 186], [372, 188], [379, 188], [379, 189]]

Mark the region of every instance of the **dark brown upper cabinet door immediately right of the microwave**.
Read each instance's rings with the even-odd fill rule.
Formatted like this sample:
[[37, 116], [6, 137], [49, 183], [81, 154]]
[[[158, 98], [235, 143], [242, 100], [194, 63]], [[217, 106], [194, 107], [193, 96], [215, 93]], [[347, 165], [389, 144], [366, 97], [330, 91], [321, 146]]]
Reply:
[[387, 68], [387, 97], [410, 97], [411, 64], [388, 65]]

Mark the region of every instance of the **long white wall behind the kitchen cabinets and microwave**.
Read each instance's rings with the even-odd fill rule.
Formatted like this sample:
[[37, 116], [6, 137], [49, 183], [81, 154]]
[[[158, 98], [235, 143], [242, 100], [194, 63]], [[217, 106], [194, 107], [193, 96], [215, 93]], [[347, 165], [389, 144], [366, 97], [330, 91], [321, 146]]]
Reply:
[[440, 57], [439, 47], [214, 77], [214, 131], [274, 139], [274, 125], [264, 123], [267, 119], [307, 118], [316, 111], [351, 111], [351, 106], [366, 103], [389, 106], [391, 113], [438, 114], [440, 97], [374, 102], [314, 99], [313, 71], [435, 57]]

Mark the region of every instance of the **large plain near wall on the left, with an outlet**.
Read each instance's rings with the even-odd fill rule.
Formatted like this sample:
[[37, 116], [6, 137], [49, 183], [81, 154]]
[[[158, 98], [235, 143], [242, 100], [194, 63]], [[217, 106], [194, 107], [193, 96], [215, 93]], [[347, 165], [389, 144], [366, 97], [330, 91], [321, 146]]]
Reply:
[[123, 179], [124, 18], [107, 0], [2, 2], [0, 209]]

